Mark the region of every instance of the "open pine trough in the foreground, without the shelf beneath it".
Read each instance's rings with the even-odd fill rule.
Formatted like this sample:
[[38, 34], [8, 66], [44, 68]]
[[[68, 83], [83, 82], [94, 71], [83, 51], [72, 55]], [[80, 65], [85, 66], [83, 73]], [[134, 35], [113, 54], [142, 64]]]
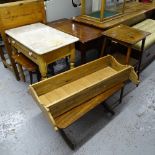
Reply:
[[106, 56], [32, 87], [40, 103], [57, 117], [130, 77], [136, 82], [137, 77], [132, 72], [131, 66], [123, 66]]

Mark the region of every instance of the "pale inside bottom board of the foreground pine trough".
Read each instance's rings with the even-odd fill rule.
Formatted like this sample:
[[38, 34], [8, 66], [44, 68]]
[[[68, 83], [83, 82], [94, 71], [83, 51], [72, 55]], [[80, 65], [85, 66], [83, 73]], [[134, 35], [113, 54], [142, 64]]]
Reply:
[[[64, 100], [64, 99], [70, 97], [71, 95], [74, 95], [74, 94], [84, 90], [85, 88], [95, 85], [95, 84], [101, 82], [102, 80], [104, 80], [105, 78], [108, 78], [116, 73], [117, 73], [117, 71], [115, 71], [114, 69], [112, 69], [110, 67], [103, 68], [101, 70], [98, 70], [97, 72], [91, 73], [91, 74], [89, 74], [85, 77], [82, 77], [76, 81], [73, 81], [73, 82], [66, 84], [62, 87], [59, 87], [57, 89], [54, 89], [53, 91], [51, 91], [47, 94], [41, 95], [39, 97], [39, 99], [42, 102], [42, 98], [43, 98], [43, 100], [44, 100], [44, 98], [46, 98], [49, 102], [46, 103], [45, 105], [48, 105], [50, 103], [51, 103], [51, 105], [54, 105], [58, 101]], [[42, 102], [42, 103], [44, 103], [44, 102]]]

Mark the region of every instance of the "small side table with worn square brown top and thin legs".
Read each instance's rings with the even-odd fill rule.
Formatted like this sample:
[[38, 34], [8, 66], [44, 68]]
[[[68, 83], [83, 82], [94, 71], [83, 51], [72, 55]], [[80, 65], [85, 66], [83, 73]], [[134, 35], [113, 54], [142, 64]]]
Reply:
[[104, 41], [103, 41], [103, 46], [101, 50], [101, 56], [105, 54], [104, 52], [106, 50], [107, 40], [109, 39], [111, 41], [115, 41], [119, 44], [122, 44], [128, 48], [127, 55], [125, 58], [125, 64], [129, 64], [130, 54], [131, 54], [133, 45], [135, 45], [139, 41], [142, 41], [140, 56], [138, 60], [138, 68], [137, 68], [137, 73], [139, 76], [141, 59], [142, 59], [142, 55], [144, 51], [145, 39], [148, 35], [150, 35], [150, 33], [141, 31], [141, 30], [138, 30], [138, 29], [126, 26], [126, 25], [119, 25], [112, 29], [104, 31], [102, 35], [104, 36]]

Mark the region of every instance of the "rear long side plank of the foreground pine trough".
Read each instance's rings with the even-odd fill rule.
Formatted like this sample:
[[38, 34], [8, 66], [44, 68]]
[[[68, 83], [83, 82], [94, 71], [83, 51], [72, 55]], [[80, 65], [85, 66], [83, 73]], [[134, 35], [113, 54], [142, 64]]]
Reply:
[[33, 85], [33, 88], [37, 92], [38, 96], [46, 94], [58, 87], [66, 85], [70, 82], [73, 82], [81, 77], [84, 77], [88, 74], [91, 74], [99, 69], [106, 67], [111, 61], [110, 56], [100, 58], [93, 62], [87, 63], [85, 65], [76, 67], [72, 71], [66, 71], [64, 73], [58, 74], [54, 77], [44, 80]]

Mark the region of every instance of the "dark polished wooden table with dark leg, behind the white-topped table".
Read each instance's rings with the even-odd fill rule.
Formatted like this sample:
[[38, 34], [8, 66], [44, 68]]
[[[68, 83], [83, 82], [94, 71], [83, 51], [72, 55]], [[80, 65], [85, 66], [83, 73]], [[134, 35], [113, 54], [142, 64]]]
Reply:
[[86, 62], [86, 51], [88, 49], [95, 48], [100, 52], [102, 30], [70, 19], [49, 22], [47, 25], [79, 38], [79, 41], [75, 43], [75, 48], [80, 51], [82, 64]]

